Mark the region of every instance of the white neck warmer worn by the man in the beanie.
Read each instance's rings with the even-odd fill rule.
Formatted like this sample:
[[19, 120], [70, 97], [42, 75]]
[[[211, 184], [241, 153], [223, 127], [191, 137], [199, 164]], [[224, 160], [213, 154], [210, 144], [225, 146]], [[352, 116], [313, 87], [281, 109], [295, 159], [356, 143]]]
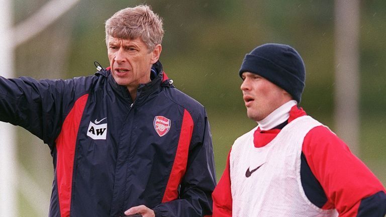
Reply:
[[257, 122], [260, 130], [270, 130], [288, 120], [289, 111], [291, 111], [291, 108], [296, 104], [296, 100], [290, 100], [280, 105], [280, 107], [276, 108], [276, 110], [271, 112], [263, 120]]

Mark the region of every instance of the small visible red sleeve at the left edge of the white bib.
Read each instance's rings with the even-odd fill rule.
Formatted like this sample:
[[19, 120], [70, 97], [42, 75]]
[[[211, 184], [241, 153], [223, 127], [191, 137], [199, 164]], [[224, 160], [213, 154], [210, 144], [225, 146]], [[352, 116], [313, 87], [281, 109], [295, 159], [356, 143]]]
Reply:
[[[231, 150], [232, 151], [232, 150]], [[231, 192], [231, 177], [229, 157], [227, 164], [219, 183], [213, 191], [213, 216], [214, 217], [231, 217], [232, 216], [232, 192]]]

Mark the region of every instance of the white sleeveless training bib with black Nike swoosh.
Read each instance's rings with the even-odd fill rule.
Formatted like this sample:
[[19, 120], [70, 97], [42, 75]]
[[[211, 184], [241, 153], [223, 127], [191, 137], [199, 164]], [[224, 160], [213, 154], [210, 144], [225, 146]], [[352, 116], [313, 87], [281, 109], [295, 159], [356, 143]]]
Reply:
[[300, 179], [304, 137], [321, 125], [303, 116], [264, 147], [254, 147], [257, 127], [235, 141], [230, 154], [233, 216], [338, 216], [335, 209], [323, 210], [309, 201]]

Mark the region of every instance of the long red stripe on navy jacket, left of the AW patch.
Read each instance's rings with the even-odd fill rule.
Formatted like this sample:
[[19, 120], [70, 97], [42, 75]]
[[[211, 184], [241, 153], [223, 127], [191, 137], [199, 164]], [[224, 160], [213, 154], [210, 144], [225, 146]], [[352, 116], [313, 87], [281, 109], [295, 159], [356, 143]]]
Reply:
[[70, 216], [75, 144], [87, 97], [88, 94], [85, 94], [75, 101], [56, 139], [56, 178], [58, 183], [60, 216], [62, 217]]

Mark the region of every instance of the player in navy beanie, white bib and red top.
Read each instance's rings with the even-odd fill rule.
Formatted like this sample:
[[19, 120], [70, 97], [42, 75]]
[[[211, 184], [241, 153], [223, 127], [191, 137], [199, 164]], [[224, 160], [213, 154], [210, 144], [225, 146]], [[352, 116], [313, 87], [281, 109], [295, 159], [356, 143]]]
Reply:
[[298, 107], [305, 67], [287, 45], [264, 44], [239, 72], [258, 126], [232, 146], [213, 216], [384, 216], [385, 189], [333, 132]]

